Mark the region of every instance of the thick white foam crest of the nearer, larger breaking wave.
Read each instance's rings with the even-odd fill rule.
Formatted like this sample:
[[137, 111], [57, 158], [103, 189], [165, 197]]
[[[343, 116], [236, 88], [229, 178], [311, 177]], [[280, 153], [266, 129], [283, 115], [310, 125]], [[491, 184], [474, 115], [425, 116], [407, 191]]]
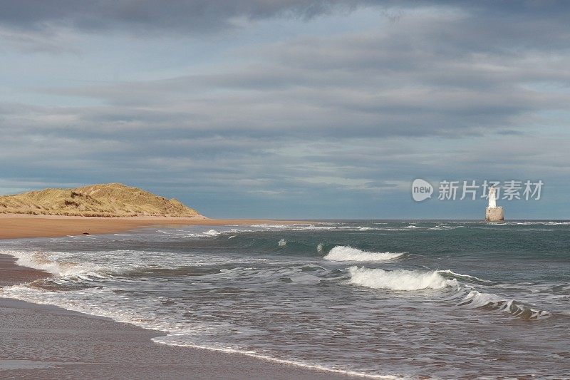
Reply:
[[459, 287], [456, 279], [445, 279], [437, 270], [418, 272], [415, 270], [398, 269], [369, 269], [365, 267], [350, 267], [351, 284], [370, 287], [372, 289], [388, 290], [420, 290], [442, 289], [444, 287]]

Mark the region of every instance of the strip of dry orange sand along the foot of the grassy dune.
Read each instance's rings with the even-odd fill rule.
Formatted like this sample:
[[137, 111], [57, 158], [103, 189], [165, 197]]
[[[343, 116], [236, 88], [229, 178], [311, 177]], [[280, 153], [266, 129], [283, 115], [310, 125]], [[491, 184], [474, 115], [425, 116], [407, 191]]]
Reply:
[[199, 217], [81, 217], [60, 215], [0, 214], [0, 239], [98, 235], [152, 226], [259, 225], [307, 223], [295, 220], [208, 219]]

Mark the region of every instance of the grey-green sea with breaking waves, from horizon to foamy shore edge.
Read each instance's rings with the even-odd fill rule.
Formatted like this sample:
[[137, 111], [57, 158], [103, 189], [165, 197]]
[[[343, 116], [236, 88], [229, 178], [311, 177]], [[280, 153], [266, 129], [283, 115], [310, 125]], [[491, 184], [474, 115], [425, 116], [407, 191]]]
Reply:
[[338, 221], [6, 240], [0, 297], [160, 344], [378, 378], [570, 377], [570, 222]]

